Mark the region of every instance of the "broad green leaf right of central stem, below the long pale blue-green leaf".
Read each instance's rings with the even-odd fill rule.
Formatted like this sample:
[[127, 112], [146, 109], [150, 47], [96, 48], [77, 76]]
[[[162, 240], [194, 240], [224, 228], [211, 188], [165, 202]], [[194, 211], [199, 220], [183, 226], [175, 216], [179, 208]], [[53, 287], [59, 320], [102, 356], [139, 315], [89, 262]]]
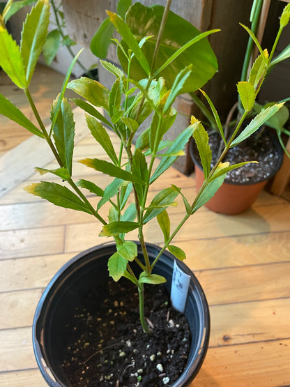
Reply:
[[149, 220], [155, 218], [158, 213], [164, 211], [165, 208], [173, 204], [174, 199], [178, 196], [178, 192], [172, 187], [164, 188], [153, 197], [151, 204], [148, 206], [143, 222], [144, 224]]

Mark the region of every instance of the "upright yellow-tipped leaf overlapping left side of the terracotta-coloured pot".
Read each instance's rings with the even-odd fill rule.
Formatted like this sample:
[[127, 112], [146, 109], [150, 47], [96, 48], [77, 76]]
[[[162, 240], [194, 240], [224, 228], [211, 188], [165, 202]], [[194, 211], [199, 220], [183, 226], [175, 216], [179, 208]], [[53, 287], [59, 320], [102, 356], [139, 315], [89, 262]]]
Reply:
[[204, 169], [204, 179], [207, 179], [211, 170], [211, 147], [208, 144], [208, 133], [199, 121], [195, 121], [192, 127], [194, 129], [193, 138], [197, 143], [201, 165]]

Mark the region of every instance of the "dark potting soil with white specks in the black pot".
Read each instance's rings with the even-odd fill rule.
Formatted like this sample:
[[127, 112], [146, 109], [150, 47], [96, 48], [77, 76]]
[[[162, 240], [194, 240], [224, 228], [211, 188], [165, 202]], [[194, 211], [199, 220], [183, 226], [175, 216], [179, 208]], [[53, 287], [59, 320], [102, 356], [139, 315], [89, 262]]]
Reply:
[[188, 321], [171, 307], [163, 285], [145, 291], [152, 335], [142, 331], [137, 289], [128, 280], [109, 282], [99, 312], [93, 297], [92, 305], [76, 308], [63, 357], [71, 386], [171, 386], [178, 379], [190, 350]]

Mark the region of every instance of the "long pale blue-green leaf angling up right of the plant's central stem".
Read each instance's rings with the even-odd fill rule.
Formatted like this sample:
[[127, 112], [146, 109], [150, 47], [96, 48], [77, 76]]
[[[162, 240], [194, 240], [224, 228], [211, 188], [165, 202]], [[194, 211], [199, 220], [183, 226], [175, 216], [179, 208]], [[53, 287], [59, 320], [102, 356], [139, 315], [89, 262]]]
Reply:
[[[188, 126], [183, 132], [181, 132], [176, 139], [174, 140], [173, 144], [169, 146], [169, 149], [167, 150], [167, 153], [171, 152], [178, 152], [182, 149], [184, 149], [185, 145], [188, 143], [188, 140], [190, 139], [190, 136], [193, 133], [193, 128], [191, 126]], [[178, 156], [169, 156], [167, 158], [162, 158], [161, 162], [159, 163], [158, 167], [155, 169], [155, 172], [151, 176], [150, 183], [153, 183], [160, 175], [162, 175], [177, 159]]]

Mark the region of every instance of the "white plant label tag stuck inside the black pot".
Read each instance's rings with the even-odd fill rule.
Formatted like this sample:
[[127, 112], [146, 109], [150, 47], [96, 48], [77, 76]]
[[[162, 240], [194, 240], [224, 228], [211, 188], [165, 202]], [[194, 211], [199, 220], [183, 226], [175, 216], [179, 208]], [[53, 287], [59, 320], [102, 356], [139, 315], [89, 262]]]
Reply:
[[172, 306], [181, 313], [185, 309], [189, 286], [190, 275], [183, 273], [176, 261], [174, 261], [170, 298]]

